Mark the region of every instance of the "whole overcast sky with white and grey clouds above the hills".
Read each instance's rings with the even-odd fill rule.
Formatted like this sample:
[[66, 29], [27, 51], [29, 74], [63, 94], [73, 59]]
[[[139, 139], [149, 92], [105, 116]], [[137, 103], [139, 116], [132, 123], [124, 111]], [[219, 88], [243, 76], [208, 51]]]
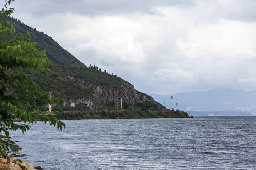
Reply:
[[256, 90], [255, 0], [16, 0], [81, 62], [155, 94]]

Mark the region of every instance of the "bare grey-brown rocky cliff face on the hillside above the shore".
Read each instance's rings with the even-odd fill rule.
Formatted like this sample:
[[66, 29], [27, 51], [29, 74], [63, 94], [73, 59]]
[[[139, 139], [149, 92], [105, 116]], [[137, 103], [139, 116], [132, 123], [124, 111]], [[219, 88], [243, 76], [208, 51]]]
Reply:
[[[146, 95], [142, 92], [139, 92], [134, 89], [134, 86], [128, 82], [122, 82], [122, 89], [118, 88], [108, 88], [104, 86], [94, 85], [86, 80], [76, 79], [71, 76], [67, 76], [65, 78], [66, 81], [77, 81], [78, 83], [88, 87], [94, 91], [94, 96], [91, 98], [64, 98], [65, 106], [75, 109], [85, 109], [85, 110], [93, 110], [93, 109], [103, 109], [105, 108], [106, 101], [116, 101], [118, 97], [118, 107], [121, 107], [121, 99], [122, 103], [127, 102], [131, 104], [135, 104], [137, 102], [146, 102], [151, 101], [154, 102], [153, 97]], [[49, 107], [49, 106], [48, 106]]]

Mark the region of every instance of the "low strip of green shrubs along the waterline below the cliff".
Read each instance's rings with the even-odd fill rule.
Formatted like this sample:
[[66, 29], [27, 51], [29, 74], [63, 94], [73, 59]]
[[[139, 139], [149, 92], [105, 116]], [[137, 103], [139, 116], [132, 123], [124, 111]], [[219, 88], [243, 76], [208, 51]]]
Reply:
[[193, 118], [184, 111], [52, 111], [58, 119], [149, 119], [149, 118]]

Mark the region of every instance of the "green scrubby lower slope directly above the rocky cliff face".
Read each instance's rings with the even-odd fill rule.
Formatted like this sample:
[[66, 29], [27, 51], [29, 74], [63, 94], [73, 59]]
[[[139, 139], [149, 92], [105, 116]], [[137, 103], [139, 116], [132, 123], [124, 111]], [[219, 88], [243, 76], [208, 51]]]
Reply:
[[67, 76], [88, 81], [94, 85], [105, 86], [108, 88], [122, 89], [123, 79], [116, 75], [101, 72], [97, 69], [87, 67], [72, 67], [52, 65], [49, 67], [50, 73], [33, 72], [32, 70], [23, 70], [28, 79], [41, 87], [41, 92], [54, 92], [54, 96], [68, 98], [90, 98], [93, 91], [78, 82], [65, 80]]

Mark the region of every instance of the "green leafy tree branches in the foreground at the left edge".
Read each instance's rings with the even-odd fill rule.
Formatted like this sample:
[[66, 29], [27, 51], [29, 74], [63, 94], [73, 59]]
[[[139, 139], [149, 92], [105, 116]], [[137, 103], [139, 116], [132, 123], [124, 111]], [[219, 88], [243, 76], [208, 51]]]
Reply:
[[[6, 0], [4, 8], [0, 11], [0, 20], [10, 16], [14, 11], [13, 8], [7, 8], [7, 5], [14, 0]], [[10, 130], [16, 131], [20, 129], [23, 133], [30, 129], [29, 125], [24, 123], [36, 123], [37, 121], [49, 121], [50, 125], [65, 128], [65, 124], [53, 116], [45, 114], [43, 107], [36, 107], [34, 111], [34, 98], [42, 104], [58, 103], [64, 105], [64, 100], [57, 97], [52, 97], [47, 93], [39, 93], [40, 87], [28, 80], [25, 74], [22, 74], [23, 69], [32, 69], [34, 72], [49, 72], [47, 67], [50, 66], [50, 61], [47, 59], [45, 51], [39, 51], [36, 47], [36, 42], [30, 42], [30, 34], [16, 34], [14, 39], [6, 41], [10, 35], [14, 35], [14, 23], [0, 23], [0, 133], [5, 133], [9, 137]], [[14, 123], [14, 120], [19, 118], [21, 123]], [[0, 140], [0, 154], [7, 159], [5, 151], [10, 150], [15, 155], [18, 152], [18, 146], [10, 140]], [[18, 160], [20, 163], [21, 161]], [[18, 163], [20, 165], [20, 163]], [[23, 170], [26, 169], [20, 165]]]

